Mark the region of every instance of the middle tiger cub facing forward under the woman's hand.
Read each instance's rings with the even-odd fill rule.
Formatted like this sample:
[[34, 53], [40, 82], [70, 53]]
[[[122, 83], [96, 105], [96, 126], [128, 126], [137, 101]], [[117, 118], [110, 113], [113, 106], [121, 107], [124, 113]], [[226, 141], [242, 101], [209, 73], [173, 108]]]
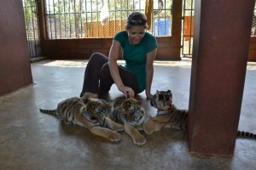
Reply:
[[153, 133], [154, 121], [140, 102], [134, 98], [118, 97], [113, 99], [113, 108], [114, 120], [124, 124], [125, 133], [131, 136], [134, 144], [145, 144], [146, 139], [139, 130], [148, 134]]

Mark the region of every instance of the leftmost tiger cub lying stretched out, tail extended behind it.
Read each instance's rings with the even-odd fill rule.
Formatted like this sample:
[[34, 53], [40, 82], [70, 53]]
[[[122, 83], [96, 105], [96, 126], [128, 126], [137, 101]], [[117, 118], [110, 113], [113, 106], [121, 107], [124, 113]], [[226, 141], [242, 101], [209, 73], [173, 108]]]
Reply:
[[39, 111], [56, 115], [66, 124], [87, 127], [90, 133], [110, 141], [119, 141], [121, 135], [116, 131], [124, 130], [123, 125], [108, 118], [108, 115], [113, 112], [113, 105], [103, 99], [73, 97], [62, 100], [55, 110], [40, 109]]

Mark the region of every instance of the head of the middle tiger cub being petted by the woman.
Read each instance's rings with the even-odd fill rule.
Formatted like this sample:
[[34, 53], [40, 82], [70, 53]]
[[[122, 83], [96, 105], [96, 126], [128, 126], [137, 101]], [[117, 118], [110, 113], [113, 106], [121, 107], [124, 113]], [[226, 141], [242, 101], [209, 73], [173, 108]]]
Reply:
[[140, 101], [133, 98], [125, 99], [121, 105], [125, 116], [125, 121], [129, 124], [140, 124], [146, 115]]

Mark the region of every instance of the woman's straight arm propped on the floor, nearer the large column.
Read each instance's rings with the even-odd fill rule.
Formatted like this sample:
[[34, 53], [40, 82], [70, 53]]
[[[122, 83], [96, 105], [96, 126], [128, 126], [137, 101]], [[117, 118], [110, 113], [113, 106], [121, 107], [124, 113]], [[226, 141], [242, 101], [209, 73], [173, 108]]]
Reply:
[[147, 63], [146, 63], [146, 96], [148, 99], [151, 99], [153, 95], [151, 94], [151, 85], [154, 75], [154, 58], [156, 55], [157, 48], [154, 48], [153, 51], [147, 54]]

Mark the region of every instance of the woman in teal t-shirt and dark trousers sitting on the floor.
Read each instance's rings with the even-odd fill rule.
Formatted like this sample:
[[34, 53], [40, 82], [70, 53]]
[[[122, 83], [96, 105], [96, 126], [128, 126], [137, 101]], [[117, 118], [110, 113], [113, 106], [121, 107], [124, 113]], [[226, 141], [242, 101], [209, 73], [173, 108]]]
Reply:
[[[108, 94], [113, 83], [128, 98], [145, 90], [151, 99], [151, 84], [154, 74], [154, 57], [157, 41], [146, 32], [148, 28], [144, 14], [133, 12], [126, 20], [126, 31], [113, 37], [108, 57], [92, 54], [84, 72], [84, 86], [80, 94], [91, 93], [92, 97]], [[122, 49], [125, 67], [117, 64], [119, 50]]]

